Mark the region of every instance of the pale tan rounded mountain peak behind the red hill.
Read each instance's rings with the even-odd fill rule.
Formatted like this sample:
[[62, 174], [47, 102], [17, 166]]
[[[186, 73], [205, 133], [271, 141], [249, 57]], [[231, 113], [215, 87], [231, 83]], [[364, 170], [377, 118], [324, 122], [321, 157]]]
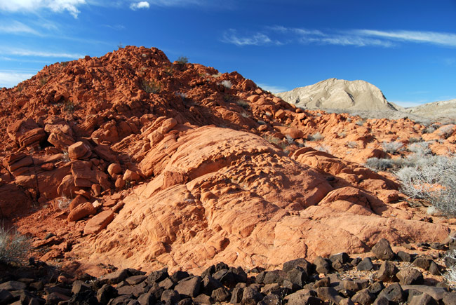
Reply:
[[397, 110], [379, 88], [367, 81], [326, 79], [276, 95], [307, 109]]

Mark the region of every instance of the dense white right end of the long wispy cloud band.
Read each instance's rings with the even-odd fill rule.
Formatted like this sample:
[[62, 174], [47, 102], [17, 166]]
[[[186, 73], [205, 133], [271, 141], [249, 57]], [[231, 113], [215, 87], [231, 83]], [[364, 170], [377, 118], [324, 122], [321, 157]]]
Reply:
[[432, 43], [441, 46], [456, 47], [456, 34], [443, 32], [422, 32], [422, 31], [378, 31], [375, 29], [359, 29], [354, 33], [361, 36], [376, 36], [384, 39], [398, 41], [410, 41], [420, 43]]

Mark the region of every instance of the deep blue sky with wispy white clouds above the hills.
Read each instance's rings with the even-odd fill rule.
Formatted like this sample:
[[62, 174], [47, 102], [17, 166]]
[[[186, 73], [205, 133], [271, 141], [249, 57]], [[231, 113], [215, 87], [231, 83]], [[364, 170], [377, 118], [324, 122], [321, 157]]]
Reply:
[[121, 43], [272, 92], [335, 77], [403, 106], [456, 98], [456, 0], [0, 0], [0, 39], [0, 87]]

